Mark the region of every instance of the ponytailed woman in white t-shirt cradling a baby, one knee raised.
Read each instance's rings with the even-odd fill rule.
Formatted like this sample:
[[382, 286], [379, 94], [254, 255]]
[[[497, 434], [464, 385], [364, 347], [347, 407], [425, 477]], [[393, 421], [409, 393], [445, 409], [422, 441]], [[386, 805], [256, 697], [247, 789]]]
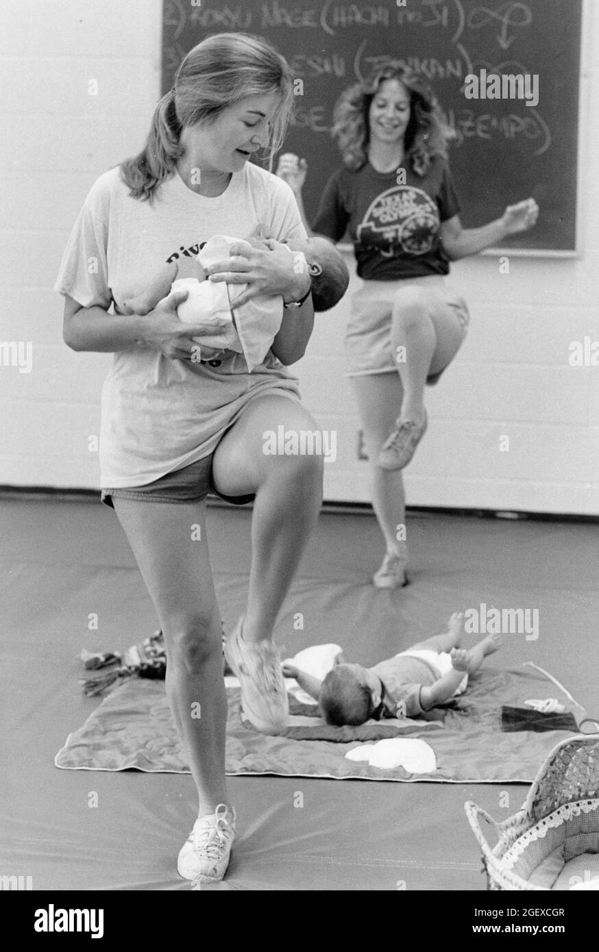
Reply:
[[[306, 232], [289, 186], [248, 161], [280, 148], [292, 101], [290, 69], [268, 43], [230, 33], [190, 50], [146, 148], [92, 186], [55, 286], [66, 343], [114, 355], [102, 393], [102, 500], [128, 536], [167, 645], [167, 693], [199, 797], [178, 870], [197, 883], [222, 878], [235, 831], [206, 496], [254, 500], [248, 605], [227, 655], [247, 715], [273, 732], [288, 710], [273, 625], [321, 504], [320, 457], [263, 452], [267, 430], [315, 428], [287, 369], [306, 349], [313, 307], [309, 270], [282, 243]], [[229, 328], [182, 323], [187, 291], [169, 289], [193, 276], [190, 261], [210, 238], [259, 228], [268, 248], [233, 246], [209, 268], [210, 280], [246, 286], [235, 307], [283, 299], [280, 327], [250, 373], [235, 350], [203, 359], [203, 339]]]

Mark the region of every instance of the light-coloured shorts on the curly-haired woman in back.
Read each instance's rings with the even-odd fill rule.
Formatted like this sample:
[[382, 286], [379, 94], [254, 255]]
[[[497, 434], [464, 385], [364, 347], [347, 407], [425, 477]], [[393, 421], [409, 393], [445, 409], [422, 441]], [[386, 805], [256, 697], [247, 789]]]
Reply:
[[[468, 305], [459, 291], [449, 285], [444, 274], [404, 278], [401, 281], [363, 281], [362, 287], [350, 298], [345, 338], [348, 377], [397, 370], [396, 355], [391, 345], [391, 310], [396, 296], [404, 288], [412, 287], [426, 288], [429, 291], [431, 313], [456, 317], [462, 335], [466, 337]], [[436, 384], [442, 373], [443, 370], [429, 377], [428, 383]]]

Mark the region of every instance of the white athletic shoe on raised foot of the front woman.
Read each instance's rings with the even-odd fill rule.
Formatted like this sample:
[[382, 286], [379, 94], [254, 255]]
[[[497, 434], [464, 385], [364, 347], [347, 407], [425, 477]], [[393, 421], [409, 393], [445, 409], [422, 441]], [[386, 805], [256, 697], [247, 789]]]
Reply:
[[241, 706], [256, 730], [280, 734], [287, 727], [289, 699], [275, 645], [265, 640], [257, 645], [242, 637], [239, 619], [225, 645], [225, 656], [241, 684]]

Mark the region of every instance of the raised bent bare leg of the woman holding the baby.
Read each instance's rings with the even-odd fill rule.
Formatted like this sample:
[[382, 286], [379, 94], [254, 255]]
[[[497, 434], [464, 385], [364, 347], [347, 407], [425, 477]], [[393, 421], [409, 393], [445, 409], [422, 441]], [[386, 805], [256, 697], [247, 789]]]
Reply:
[[265, 395], [246, 407], [214, 452], [212, 478], [224, 495], [255, 493], [251, 519], [251, 566], [243, 638], [259, 642], [272, 629], [316, 525], [322, 503], [323, 457], [267, 455], [265, 434], [314, 431], [307, 410]]

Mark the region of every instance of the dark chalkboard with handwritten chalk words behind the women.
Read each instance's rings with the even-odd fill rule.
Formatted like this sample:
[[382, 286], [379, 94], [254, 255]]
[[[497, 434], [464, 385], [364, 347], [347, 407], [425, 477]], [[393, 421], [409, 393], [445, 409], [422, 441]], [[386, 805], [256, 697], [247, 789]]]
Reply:
[[[215, 32], [267, 37], [303, 81], [284, 150], [309, 162], [305, 202], [313, 219], [340, 155], [330, 138], [339, 94], [389, 59], [425, 76], [452, 129], [449, 161], [475, 228], [533, 196], [533, 230], [509, 247], [568, 253], [576, 239], [581, 0], [166, 0], [163, 89], [183, 56]], [[538, 76], [538, 104], [466, 98], [466, 77]], [[296, 84], [301, 89], [301, 84]]]

